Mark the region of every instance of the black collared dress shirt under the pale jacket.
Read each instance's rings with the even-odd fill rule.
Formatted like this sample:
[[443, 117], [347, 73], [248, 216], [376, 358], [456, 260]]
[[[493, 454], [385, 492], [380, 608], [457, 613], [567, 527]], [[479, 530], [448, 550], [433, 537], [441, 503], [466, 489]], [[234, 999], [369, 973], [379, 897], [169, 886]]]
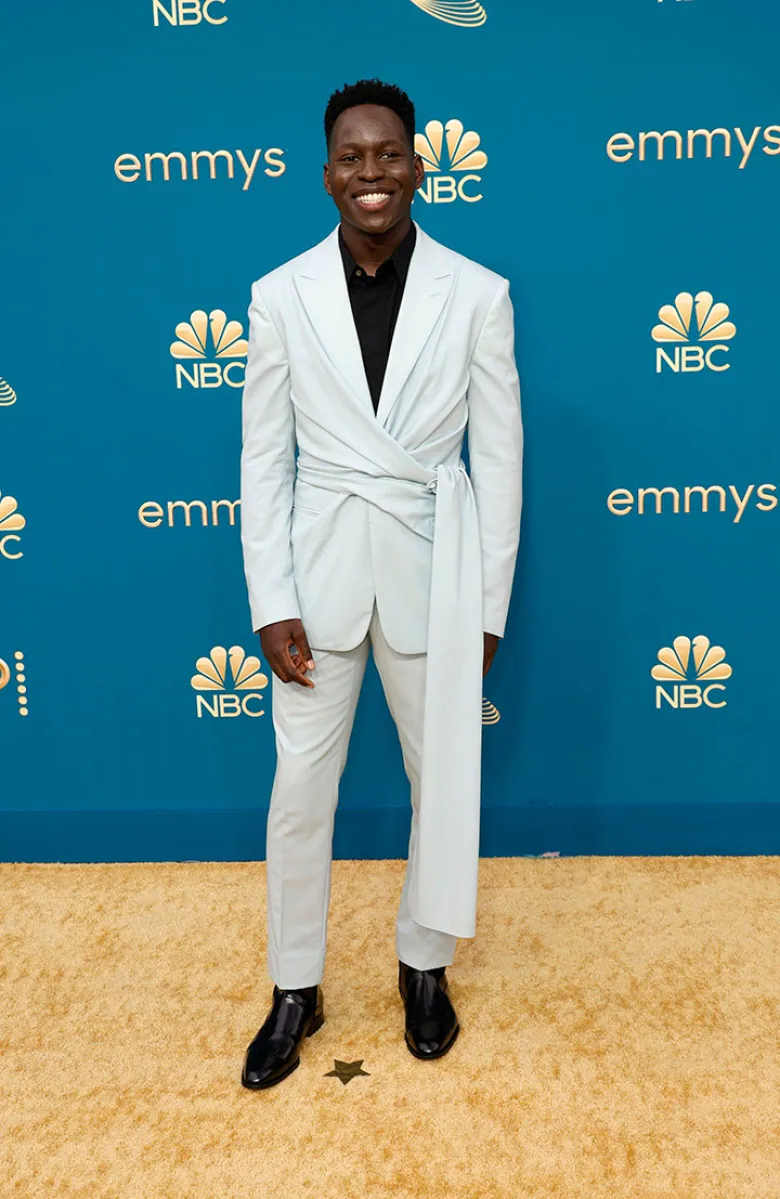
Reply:
[[401, 306], [404, 285], [412, 260], [417, 230], [412, 225], [395, 252], [382, 263], [376, 275], [367, 275], [344, 245], [339, 228], [339, 247], [352, 306], [352, 318], [361, 343], [363, 367], [374, 411], [379, 405], [393, 330]]

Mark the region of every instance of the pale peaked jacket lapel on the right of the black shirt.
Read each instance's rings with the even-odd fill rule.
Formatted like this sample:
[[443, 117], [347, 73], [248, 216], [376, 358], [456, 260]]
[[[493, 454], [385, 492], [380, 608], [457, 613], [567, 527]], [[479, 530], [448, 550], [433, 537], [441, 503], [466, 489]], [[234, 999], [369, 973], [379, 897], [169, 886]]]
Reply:
[[[385, 424], [401, 387], [430, 337], [452, 288], [452, 260], [417, 222], [415, 252], [409, 264], [406, 285], [395, 321], [387, 370], [379, 398], [376, 418]], [[349, 297], [347, 297], [349, 302]]]

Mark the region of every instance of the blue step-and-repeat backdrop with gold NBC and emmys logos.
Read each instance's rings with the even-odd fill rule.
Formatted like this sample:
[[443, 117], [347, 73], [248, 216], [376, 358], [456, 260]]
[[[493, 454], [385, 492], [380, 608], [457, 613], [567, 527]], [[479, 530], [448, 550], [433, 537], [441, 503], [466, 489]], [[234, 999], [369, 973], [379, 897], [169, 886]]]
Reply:
[[[515, 303], [483, 851], [778, 851], [776, 0], [40, 0], [2, 32], [0, 856], [264, 854], [249, 287], [334, 225], [322, 112], [365, 76], [417, 106], [415, 217]], [[407, 823], [370, 675], [337, 852]]]

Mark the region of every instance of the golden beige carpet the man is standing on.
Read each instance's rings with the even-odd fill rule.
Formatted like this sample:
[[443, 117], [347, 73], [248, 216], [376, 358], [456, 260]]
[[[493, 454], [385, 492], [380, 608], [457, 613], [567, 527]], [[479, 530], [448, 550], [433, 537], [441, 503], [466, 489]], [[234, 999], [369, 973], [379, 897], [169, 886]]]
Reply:
[[437, 1062], [400, 876], [335, 864], [327, 1023], [250, 1092], [264, 866], [0, 866], [2, 1199], [778, 1199], [780, 860], [483, 862]]

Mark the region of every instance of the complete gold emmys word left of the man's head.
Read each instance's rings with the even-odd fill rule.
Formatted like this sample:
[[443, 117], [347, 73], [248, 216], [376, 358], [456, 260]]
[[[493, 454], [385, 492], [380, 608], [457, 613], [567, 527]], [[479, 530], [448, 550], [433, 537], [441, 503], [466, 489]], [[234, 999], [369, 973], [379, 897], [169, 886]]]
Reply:
[[[145, 153], [143, 161], [134, 153], [121, 153], [114, 162], [114, 174], [122, 183], [134, 183], [144, 179], [147, 183], [169, 183], [171, 179], [176, 182], [187, 182], [191, 179], [235, 179], [241, 175], [236, 171], [236, 161], [243, 174], [242, 192], [249, 191], [249, 185], [254, 179], [254, 173], [260, 162], [265, 162], [264, 175], [268, 179], [278, 179], [284, 175], [286, 163], [282, 161], [284, 150], [272, 146], [270, 150], [253, 150], [246, 155], [243, 150], [192, 150], [182, 152], [171, 150], [163, 153], [155, 150], [153, 153]], [[261, 158], [262, 156], [262, 158]], [[218, 165], [219, 159], [220, 165]]]

